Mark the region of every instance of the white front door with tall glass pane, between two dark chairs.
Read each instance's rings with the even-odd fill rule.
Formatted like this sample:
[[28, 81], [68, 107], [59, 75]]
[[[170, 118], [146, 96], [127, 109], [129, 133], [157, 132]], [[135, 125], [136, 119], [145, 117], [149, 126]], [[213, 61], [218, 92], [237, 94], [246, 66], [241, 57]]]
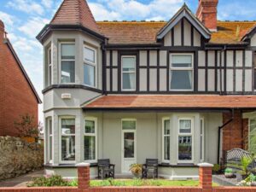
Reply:
[[131, 173], [130, 166], [137, 162], [136, 120], [122, 120], [122, 172]]

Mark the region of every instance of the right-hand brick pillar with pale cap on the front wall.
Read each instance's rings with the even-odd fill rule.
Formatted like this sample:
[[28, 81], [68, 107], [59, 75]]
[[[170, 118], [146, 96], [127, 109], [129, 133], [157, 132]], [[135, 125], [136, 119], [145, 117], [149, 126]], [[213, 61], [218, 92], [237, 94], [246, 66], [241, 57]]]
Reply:
[[199, 166], [199, 186], [203, 192], [212, 192], [212, 164], [200, 163]]

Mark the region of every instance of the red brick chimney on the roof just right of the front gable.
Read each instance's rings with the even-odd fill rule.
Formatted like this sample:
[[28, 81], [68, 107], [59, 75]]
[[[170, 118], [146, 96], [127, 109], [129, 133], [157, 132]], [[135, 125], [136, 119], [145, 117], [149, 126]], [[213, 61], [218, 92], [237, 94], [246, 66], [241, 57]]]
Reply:
[[217, 31], [218, 0], [199, 0], [196, 16], [210, 31]]

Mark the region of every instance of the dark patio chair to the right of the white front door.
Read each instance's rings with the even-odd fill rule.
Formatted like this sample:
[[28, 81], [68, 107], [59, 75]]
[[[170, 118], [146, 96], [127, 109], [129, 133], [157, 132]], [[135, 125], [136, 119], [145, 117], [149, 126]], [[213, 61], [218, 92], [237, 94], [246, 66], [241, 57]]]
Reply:
[[143, 178], [148, 178], [148, 173], [151, 173], [153, 178], [158, 177], [158, 159], [146, 159], [146, 164], [143, 165]]

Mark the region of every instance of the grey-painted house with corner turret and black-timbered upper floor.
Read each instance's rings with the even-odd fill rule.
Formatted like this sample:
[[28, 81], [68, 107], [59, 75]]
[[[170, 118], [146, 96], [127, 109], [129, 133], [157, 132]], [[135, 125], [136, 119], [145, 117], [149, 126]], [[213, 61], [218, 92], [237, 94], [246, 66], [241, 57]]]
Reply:
[[[253, 148], [255, 21], [218, 21], [218, 0], [165, 21], [96, 21], [64, 0], [44, 45], [46, 172], [109, 158], [116, 175], [158, 158], [159, 175], [198, 177], [197, 164]], [[171, 17], [171, 16], [170, 16]], [[249, 143], [249, 144], [248, 144]], [[255, 143], [254, 143], [255, 145]]]

